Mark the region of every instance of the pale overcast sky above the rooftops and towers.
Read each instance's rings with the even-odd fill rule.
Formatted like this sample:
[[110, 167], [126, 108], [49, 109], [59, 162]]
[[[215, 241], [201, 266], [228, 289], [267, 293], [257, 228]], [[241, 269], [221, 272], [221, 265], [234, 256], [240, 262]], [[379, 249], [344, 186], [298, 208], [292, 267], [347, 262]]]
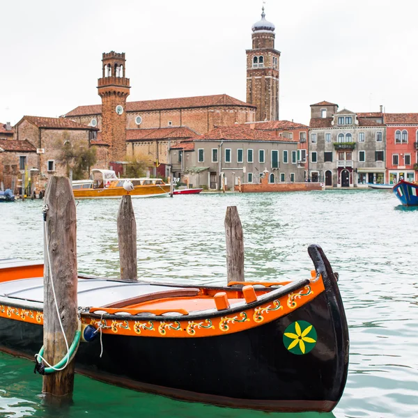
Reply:
[[[0, 0], [0, 121], [98, 104], [102, 52], [126, 53], [128, 100], [226, 93], [245, 101], [245, 49], [262, 0]], [[309, 104], [418, 112], [418, 2], [268, 0], [280, 118]]]

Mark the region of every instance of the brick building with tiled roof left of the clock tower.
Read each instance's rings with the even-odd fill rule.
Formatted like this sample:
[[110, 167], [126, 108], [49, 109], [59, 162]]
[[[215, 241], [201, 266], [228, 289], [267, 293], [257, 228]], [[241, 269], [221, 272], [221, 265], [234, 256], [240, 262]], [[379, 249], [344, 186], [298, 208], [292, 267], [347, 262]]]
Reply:
[[102, 146], [96, 140], [97, 130], [66, 118], [24, 116], [15, 125], [15, 139], [27, 141], [35, 147], [37, 161], [34, 168], [38, 169], [40, 179], [46, 180], [52, 175], [67, 174], [67, 166], [61, 161], [64, 144], [73, 147]]

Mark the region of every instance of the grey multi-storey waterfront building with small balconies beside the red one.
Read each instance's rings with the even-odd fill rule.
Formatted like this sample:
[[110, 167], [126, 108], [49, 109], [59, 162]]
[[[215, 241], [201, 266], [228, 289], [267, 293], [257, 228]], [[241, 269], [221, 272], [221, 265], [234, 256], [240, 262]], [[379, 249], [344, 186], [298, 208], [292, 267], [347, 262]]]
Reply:
[[311, 104], [309, 179], [328, 187], [385, 183], [386, 130], [381, 112], [338, 111], [330, 102]]

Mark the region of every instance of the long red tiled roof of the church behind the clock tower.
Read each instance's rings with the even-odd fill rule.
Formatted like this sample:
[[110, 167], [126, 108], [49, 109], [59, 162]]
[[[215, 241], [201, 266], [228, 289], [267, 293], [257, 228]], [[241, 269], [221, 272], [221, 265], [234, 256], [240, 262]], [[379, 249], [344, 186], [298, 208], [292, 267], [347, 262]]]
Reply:
[[[141, 100], [139, 102], [127, 102], [126, 111], [153, 111], [165, 109], [185, 109], [189, 107], [214, 107], [214, 106], [240, 106], [254, 107], [252, 104], [242, 102], [241, 100], [232, 98], [227, 94], [194, 96], [191, 98], [174, 98], [159, 100]], [[102, 113], [101, 104], [92, 104], [90, 106], [79, 106], [68, 114], [70, 116], [96, 115]]]

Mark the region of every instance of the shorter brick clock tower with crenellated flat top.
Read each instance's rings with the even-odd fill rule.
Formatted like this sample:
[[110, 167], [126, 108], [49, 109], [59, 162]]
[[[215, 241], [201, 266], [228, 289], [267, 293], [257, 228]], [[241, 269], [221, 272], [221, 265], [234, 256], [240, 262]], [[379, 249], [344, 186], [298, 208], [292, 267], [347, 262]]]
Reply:
[[104, 52], [98, 93], [102, 98], [102, 139], [110, 145], [109, 162], [126, 160], [126, 98], [129, 89], [129, 79], [125, 78], [125, 52]]

